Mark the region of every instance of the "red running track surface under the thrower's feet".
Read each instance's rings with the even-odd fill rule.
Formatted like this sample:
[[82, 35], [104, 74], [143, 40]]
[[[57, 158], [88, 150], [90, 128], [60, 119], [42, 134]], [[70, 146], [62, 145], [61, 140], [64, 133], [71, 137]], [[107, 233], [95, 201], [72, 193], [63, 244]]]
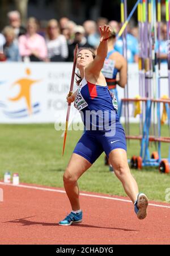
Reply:
[[138, 220], [133, 204], [125, 197], [84, 193], [80, 196], [82, 224], [59, 226], [58, 221], [70, 212], [66, 193], [63, 189], [36, 187], [0, 183], [4, 194], [0, 202], [0, 244], [170, 243], [170, 204], [150, 202], [156, 206], [149, 205], [147, 218]]

